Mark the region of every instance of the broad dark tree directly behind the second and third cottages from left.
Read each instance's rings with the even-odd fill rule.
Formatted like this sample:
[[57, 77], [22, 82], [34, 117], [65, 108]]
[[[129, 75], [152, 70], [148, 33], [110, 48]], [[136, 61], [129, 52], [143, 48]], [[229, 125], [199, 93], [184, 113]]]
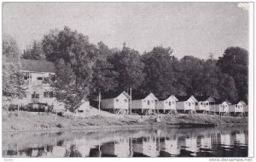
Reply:
[[171, 47], [154, 47], [143, 54], [145, 80], [143, 89], [154, 92], [158, 98], [166, 98], [177, 92], [177, 59]]

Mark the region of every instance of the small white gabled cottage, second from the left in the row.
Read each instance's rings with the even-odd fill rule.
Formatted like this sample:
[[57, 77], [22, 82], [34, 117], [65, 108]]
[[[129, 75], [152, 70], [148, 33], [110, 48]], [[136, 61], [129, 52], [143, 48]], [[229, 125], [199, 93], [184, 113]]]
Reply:
[[141, 110], [141, 113], [155, 113], [158, 98], [152, 92], [146, 94], [137, 94], [132, 96], [131, 110]]

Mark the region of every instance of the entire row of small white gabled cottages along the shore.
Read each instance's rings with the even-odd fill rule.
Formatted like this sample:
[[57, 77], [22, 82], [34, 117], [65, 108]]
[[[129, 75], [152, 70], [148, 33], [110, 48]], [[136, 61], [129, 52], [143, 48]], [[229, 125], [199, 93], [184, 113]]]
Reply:
[[[131, 101], [131, 103], [130, 103]], [[113, 112], [120, 110], [131, 110], [145, 113], [148, 111], [162, 111], [163, 113], [183, 112], [216, 112], [224, 113], [245, 113], [247, 112], [246, 103], [240, 101], [231, 104], [228, 101], [215, 100], [212, 97], [200, 96], [174, 96], [158, 99], [152, 92], [131, 97], [126, 92], [102, 99], [102, 109], [111, 109]]]

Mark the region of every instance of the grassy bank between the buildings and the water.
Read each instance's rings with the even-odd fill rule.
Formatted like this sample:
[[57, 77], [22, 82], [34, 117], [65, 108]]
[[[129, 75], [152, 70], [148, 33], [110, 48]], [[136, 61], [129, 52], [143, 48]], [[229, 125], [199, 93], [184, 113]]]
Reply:
[[[160, 122], [156, 122], [161, 116]], [[46, 113], [20, 111], [20, 115], [3, 112], [3, 131], [65, 131], [65, 130], [94, 130], [113, 128], [139, 127], [212, 127], [223, 125], [247, 125], [247, 117], [228, 117], [215, 115], [113, 115], [106, 112], [102, 115], [84, 115], [75, 120], [67, 117]]]

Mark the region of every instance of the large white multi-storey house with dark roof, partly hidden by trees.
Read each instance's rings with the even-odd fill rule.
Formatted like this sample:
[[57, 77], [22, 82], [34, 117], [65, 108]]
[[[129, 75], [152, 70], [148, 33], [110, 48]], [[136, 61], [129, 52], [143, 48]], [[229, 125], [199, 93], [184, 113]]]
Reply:
[[20, 68], [26, 82], [26, 96], [19, 100], [19, 104], [48, 104], [55, 109], [64, 109], [64, 104], [54, 98], [53, 88], [43, 82], [44, 78], [55, 74], [55, 65], [52, 62], [20, 59]]

